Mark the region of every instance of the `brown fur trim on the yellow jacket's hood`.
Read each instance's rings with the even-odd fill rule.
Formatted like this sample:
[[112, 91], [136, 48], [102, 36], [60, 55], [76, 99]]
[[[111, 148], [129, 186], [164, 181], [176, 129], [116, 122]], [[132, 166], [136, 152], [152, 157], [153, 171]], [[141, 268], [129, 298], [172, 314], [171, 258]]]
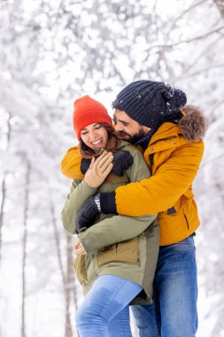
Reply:
[[191, 142], [202, 139], [207, 127], [203, 112], [197, 106], [183, 106], [182, 114], [179, 125], [183, 136]]

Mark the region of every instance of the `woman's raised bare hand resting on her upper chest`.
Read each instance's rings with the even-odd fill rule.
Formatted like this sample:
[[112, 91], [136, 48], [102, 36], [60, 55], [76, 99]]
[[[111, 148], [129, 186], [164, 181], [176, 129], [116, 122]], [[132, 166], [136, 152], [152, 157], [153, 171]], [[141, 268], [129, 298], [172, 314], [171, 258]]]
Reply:
[[93, 157], [84, 181], [89, 187], [99, 187], [112, 170], [112, 153], [104, 151], [97, 160]]

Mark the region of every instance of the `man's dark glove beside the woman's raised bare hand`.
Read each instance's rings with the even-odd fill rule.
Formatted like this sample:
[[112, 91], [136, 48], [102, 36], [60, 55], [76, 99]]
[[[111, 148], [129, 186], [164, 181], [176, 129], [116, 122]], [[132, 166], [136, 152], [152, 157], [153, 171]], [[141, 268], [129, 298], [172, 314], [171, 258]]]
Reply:
[[128, 151], [113, 153], [112, 173], [116, 176], [123, 176], [124, 171], [133, 164], [133, 157]]

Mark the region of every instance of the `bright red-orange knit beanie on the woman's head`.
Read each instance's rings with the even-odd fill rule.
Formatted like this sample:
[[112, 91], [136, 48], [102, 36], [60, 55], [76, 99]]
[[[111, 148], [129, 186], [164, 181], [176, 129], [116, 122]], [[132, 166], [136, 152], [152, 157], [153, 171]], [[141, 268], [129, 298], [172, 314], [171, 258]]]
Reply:
[[78, 98], [73, 102], [73, 129], [79, 140], [81, 130], [93, 123], [105, 123], [112, 126], [112, 119], [103, 104], [89, 95]]

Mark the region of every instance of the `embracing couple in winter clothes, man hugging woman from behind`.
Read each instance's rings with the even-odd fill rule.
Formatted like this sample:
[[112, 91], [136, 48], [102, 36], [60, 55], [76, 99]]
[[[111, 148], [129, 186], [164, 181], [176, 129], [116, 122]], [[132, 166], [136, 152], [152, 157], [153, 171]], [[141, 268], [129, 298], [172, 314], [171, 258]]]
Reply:
[[112, 103], [73, 104], [80, 141], [66, 153], [73, 178], [63, 225], [77, 234], [76, 275], [84, 300], [81, 337], [194, 337], [199, 219], [192, 184], [204, 153], [205, 119], [182, 90], [132, 82]]

